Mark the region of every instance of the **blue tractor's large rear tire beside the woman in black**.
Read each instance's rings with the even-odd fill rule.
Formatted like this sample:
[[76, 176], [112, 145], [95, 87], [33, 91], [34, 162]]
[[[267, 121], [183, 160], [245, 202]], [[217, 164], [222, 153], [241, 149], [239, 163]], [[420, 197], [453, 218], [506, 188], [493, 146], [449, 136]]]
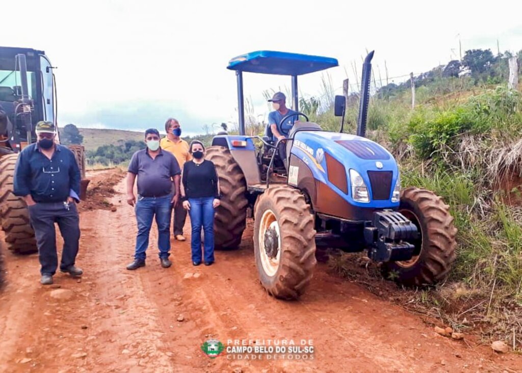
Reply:
[[221, 204], [214, 219], [214, 246], [216, 249], [236, 248], [246, 227], [245, 175], [227, 148], [213, 146], [205, 153], [205, 159], [216, 166], [221, 189]]

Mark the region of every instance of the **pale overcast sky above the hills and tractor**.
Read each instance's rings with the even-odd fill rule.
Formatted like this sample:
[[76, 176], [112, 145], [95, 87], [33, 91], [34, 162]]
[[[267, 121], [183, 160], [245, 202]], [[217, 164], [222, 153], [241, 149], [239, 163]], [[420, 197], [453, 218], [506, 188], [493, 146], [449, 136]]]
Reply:
[[[484, 5], [481, 5], [483, 3]], [[424, 5], [429, 4], [429, 5]], [[468, 5], [469, 4], [469, 5]], [[375, 50], [390, 77], [427, 71], [467, 49], [522, 49], [522, 1], [123, 1], [2, 2], [0, 45], [44, 50], [58, 88], [63, 126], [142, 130], [169, 116], [185, 134], [237, 122], [230, 58], [256, 50], [324, 55], [334, 88], [354, 82], [352, 63]], [[320, 95], [322, 73], [300, 78]], [[247, 74], [245, 96], [264, 115], [264, 90], [288, 77]], [[378, 79], [378, 77], [377, 77]], [[404, 78], [396, 79], [400, 81]]]

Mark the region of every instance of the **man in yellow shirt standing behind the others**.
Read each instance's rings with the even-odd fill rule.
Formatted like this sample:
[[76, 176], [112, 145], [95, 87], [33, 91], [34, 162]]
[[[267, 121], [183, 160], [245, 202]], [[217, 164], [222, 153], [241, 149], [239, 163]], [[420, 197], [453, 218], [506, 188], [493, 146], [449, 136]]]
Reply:
[[[167, 119], [165, 122], [165, 131], [167, 137], [160, 141], [160, 147], [163, 150], [171, 152], [176, 157], [177, 163], [180, 164], [180, 169], [183, 169], [185, 162], [192, 160], [192, 155], [188, 151], [188, 143], [183, 140], [181, 136], [181, 126], [174, 118]], [[174, 211], [174, 238], [179, 241], [184, 241], [183, 226], [187, 217], [187, 210], [183, 208], [181, 202], [177, 203], [173, 208]]]

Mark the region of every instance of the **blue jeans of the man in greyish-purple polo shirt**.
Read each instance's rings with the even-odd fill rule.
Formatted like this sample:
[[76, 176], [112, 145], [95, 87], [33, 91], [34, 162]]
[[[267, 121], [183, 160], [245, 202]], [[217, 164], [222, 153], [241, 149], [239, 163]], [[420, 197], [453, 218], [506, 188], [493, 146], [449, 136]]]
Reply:
[[136, 220], [138, 236], [136, 237], [136, 252], [134, 258], [145, 260], [145, 251], [149, 246], [149, 232], [152, 219], [156, 215], [158, 225], [158, 248], [160, 258], [168, 258], [170, 252], [170, 218], [172, 213], [172, 195], [164, 197], [143, 197], [138, 195], [136, 201]]

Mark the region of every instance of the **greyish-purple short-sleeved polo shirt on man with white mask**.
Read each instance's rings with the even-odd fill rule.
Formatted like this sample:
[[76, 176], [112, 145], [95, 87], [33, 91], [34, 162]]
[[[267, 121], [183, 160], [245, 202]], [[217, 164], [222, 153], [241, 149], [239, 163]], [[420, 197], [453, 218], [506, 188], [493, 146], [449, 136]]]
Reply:
[[[160, 148], [161, 149], [161, 148]], [[172, 153], [160, 150], [155, 159], [148, 149], [133, 154], [128, 172], [138, 175], [138, 194], [143, 197], [162, 197], [175, 192], [172, 177], [181, 173]]]

